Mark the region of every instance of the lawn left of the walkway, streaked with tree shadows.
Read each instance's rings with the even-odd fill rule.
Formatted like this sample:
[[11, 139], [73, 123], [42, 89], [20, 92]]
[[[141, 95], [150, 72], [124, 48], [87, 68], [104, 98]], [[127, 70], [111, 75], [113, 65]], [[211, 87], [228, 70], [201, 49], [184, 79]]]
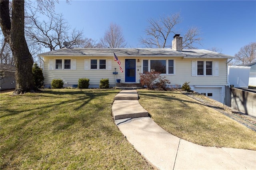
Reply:
[[0, 169], [151, 169], [112, 119], [119, 90], [0, 94]]

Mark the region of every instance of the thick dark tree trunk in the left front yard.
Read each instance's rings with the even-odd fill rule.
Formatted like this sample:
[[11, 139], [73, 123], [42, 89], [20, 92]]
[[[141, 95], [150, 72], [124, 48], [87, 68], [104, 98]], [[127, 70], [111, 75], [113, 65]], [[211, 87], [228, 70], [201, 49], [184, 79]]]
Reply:
[[12, 1], [11, 23], [8, 10], [9, 1], [1, 0], [0, 2], [1, 28], [6, 41], [12, 49], [14, 64], [16, 66], [16, 89], [14, 94], [34, 91], [35, 87], [32, 74], [33, 58], [29, 52], [24, 35], [24, 0]]

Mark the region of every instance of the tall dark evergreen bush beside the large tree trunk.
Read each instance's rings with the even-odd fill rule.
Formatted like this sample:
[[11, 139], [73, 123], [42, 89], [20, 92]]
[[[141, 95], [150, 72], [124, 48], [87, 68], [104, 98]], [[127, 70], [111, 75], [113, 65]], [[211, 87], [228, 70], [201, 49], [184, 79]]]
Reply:
[[44, 74], [43, 70], [38, 66], [37, 63], [34, 63], [32, 68], [33, 81], [36, 88], [44, 87]]

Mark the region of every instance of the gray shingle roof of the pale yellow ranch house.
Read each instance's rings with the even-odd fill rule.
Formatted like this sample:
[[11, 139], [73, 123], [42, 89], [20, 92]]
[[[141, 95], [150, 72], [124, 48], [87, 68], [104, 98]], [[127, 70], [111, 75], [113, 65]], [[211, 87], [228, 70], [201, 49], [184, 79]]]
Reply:
[[184, 49], [182, 52], [170, 48], [62, 48], [38, 54], [39, 56], [113, 56], [118, 57], [184, 57], [184, 58], [233, 58], [230, 55], [204, 49]]

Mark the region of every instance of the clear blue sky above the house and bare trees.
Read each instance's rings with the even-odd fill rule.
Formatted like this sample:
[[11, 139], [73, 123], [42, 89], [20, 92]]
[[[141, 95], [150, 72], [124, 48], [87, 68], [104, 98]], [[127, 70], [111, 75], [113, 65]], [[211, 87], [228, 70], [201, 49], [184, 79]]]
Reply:
[[[200, 28], [204, 39], [199, 49], [217, 47], [234, 55], [241, 47], [256, 42], [256, 1], [60, 1], [62, 13], [72, 28], [84, 36], [100, 40], [111, 22], [121, 26], [127, 47], [142, 47], [140, 36], [149, 26], [147, 20], [180, 12], [177, 26], [184, 34], [190, 26]], [[173, 35], [171, 35], [173, 36]]]

